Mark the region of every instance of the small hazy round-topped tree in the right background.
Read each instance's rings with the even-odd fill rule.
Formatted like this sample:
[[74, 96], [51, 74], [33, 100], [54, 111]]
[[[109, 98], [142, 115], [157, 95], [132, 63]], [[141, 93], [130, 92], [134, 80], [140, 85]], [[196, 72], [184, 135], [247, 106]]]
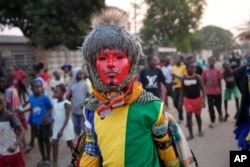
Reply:
[[199, 31], [199, 34], [202, 47], [204, 49], [212, 50], [216, 56], [230, 51], [235, 46], [233, 34], [221, 27], [211, 25], [206, 26]]

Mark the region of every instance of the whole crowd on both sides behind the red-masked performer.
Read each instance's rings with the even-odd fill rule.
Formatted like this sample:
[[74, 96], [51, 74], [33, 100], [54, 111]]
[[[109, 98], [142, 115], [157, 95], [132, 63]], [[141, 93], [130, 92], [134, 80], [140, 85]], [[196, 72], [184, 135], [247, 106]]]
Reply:
[[[236, 103], [234, 118], [238, 117], [240, 93], [234, 79], [235, 66], [232, 67], [230, 62], [223, 63], [222, 72], [215, 67], [216, 59], [213, 56], [209, 57], [206, 67], [192, 56], [183, 58], [175, 55], [164, 57], [160, 61], [157, 56], [148, 56], [146, 60], [146, 67], [138, 66], [136, 80], [141, 82], [144, 90], [162, 99], [166, 108], [170, 106], [169, 97], [173, 99], [178, 112], [178, 123], [184, 121], [185, 111], [189, 131], [187, 140], [194, 138], [193, 115], [198, 135], [203, 136], [201, 113], [206, 101], [211, 121], [209, 128], [215, 127], [215, 109], [218, 121], [227, 121], [228, 101], [232, 94]], [[72, 68], [65, 63], [61, 70], [63, 75], [56, 70], [51, 76], [44, 64], [38, 63], [29, 66], [27, 73], [19, 66], [8, 67], [1, 76], [0, 166], [24, 167], [25, 154], [32, 151], [35, 139], [41, 155], [37, 167], [51, 165], [51, 148], [53, 167], [58, 167], [58, 147], [61, 140], [67, 142], [70, 151], [74, 149], [74, 139], [85, 131], [83, 109], [85, 100], [93, 93], [93, 87], [86, 69]], [[26, 81], [28, 76], [31, 78], [29, 84]], [[223, 96], [222, 79], [226, 87]], [[225, 113], [222, 109], [222, 97]], [[25, 113], [28, 115], [27, 119]], [[28, 125], [29, 143], [25, 136]], [[11, 131], [15, 135], [11, 135]]]

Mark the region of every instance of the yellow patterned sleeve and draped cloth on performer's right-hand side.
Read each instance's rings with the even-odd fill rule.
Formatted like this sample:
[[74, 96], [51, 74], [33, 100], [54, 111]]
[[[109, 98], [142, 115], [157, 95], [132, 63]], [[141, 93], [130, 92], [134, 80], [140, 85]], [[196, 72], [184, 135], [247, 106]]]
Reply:
[[163, 107], [152, 128], [159, 159], [164, 166], [179, 167], [189, 164], [191, 152], [186, 139], [173, 116], [164, 113]]

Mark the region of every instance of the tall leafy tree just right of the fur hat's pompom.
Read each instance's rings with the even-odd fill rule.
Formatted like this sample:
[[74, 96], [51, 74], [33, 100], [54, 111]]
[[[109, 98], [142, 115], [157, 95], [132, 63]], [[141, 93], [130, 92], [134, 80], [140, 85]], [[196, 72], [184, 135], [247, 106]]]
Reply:
[[[145, 0], [149, 8], [143, 28], [145, 43], [165, 45], [195, 30], [202, 16], [205, 0]], [[183, 41], [185, 43], [185, 40]]]

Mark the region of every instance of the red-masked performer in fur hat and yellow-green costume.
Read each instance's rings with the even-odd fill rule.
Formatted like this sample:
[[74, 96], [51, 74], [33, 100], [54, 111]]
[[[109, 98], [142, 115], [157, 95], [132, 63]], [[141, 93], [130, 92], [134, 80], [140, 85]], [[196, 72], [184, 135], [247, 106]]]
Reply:
[[82, 51], [94, 94], [85, 105], [80, 167], [190, 166], [192, 155], [163, 102], [142, 89], [136, 70], [140, 39], [126, 12], [108, 7], [92, 18]]

